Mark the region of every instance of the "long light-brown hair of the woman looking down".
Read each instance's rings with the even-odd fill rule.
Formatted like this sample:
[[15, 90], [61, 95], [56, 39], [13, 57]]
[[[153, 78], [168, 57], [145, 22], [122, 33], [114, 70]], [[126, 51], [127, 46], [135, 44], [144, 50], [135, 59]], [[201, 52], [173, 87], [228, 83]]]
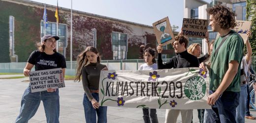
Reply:
[[[75, 77], [75, 81], [80, 82], [81, 80], [81, 75], [82, 75], [82, 68], [84, 66], [87, 66], [90, 62], [88, 61], [88, 59], [86, 58], [86, 52], [87, 51], [91, 51], [94, 52], [95, 54], [98, 54], [98, 50], [93, 47], [93, 46], [89, 46], [87, 47], [83, 52], [81, 52], [78, 56], [77, 56], [77, 60], [76, 60], [76, 77]], [[100, 62], [100, 57], [98, 55], [97, 57], [97, 62]]]

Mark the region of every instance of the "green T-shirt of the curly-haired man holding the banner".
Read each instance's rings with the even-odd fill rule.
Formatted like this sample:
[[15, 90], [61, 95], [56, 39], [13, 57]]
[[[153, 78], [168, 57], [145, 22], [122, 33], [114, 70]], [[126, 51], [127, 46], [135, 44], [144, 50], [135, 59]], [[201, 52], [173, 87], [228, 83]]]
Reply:
[[233, 33], [224, 41], [216, 56], [214, 56], [214, 53], [221, 44], [223, 38], [224, 37], [220, 36], [216, 39], [216, 43], [214, 43], [211, 55], [212, 63], [211, 68], [209, 69], [210, 90], [216, 91], [220, 86], [228, 69], [228, 63], [231, 61], [237, 61], [239, 63], [237, 73], [232, 80], [232, 83], [225, 91], [240, 92], [240, 66], [243, 58], [244, 42], [241, 36], [233, 31]]

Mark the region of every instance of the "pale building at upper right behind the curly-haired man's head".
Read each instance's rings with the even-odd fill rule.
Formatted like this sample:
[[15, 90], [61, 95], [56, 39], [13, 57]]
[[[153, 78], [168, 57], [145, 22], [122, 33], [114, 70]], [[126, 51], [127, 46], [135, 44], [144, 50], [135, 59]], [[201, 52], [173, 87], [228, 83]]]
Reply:
[[[206, 8], [217, 4], [225, 5], [236, 13], [236, 20], [246, 20], [246, 0], [212, 0], [210, 3], [204, 0], [184, 0], [184, 18], [209, 19]], [[213, 40], [217, 36], [217, 32], [213, 32], [208, 26], [209, 39]], [[206, 54], [207, 44], [202, 38], [190, 38], [191, 43], [200, 43], [202, 45], [202, 53]]]

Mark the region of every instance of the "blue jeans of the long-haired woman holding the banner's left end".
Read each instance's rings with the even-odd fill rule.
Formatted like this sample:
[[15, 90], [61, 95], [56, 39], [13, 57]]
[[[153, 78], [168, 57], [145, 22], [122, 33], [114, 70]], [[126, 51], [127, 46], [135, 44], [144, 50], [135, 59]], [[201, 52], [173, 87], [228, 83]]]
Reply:
[[[92, 95], [98, 102], [98, 93], [92, 93]], [[94, 109], [86, 93], [84, 93], [83, 105], [86, 123], [96, 123], [96, 114], [98, 118], [97, 123], [107, 123], [107, 106], [99, 106], [98, 109]]]

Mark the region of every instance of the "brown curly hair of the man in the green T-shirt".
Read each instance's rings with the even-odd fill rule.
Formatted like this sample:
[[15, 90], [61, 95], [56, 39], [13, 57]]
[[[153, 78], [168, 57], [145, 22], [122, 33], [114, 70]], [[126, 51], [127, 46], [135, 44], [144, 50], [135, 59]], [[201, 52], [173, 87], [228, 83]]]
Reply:
[[232, 9], [223, 5], [216, 5], [207, 8], [206, 11], [209, 15], [213, 15], [213, 21], [220, 25], [221, 29], [233, 29], [236, 26], [235, 13]]

